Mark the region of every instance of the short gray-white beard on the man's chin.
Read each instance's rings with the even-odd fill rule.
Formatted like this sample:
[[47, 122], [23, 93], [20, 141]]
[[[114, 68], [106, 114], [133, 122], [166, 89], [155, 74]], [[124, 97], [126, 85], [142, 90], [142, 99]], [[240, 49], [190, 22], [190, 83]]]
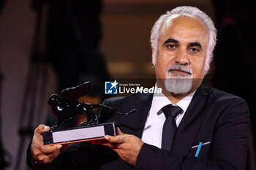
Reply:
[[192, 88], [192, 77], [168, 76], [165, 79], [165, 88], [170, 93], [187, 93]]

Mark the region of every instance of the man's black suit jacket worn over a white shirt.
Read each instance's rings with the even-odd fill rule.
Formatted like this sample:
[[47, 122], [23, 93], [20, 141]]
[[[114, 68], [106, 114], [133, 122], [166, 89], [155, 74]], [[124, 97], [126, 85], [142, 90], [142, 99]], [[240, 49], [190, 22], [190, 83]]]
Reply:
[[[115, 122], [126, 134], [141, 138], [151, 107], [152, 94], [135, 94], [124, 98], [109, 98], [104, 104], [119, 112], [138, 109], [121, 116], [102, 110], [101, 122]], [[229, 93], [201, 85], [178, 125], [173, 150], [167, 152], [150, 144], [143, 144], [135, 166], [130, 166], [116, 152], [89, 142], [72, 144], [52, 163], [33, 163], [32, 169], [239, 169], [246, 168], [249, 109], [246, 101]], [[198, 157], [197, 145], [203, 142]]]

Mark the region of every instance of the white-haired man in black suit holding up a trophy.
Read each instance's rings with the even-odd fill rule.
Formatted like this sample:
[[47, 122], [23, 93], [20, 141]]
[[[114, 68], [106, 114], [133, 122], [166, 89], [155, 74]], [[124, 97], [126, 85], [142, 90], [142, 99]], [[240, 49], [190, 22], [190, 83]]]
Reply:
[[[117, 136], [105, 136], [101, 141], [72, 144], [62, 150], [61, 145], [47, 147], [42, 144], [42, 132], [49, 127], [39, 125], [28, 150], [29, 166], [245, 169], [249, 126], [246, 102], [201, 85], [215, 42], [214, 24], [199, 9], [177, 7], [162, 15], [151, 31], [156, 86], [162, 88], [162, 95], [135, 94], [105, 100], [104, 104], [119, 112], [138, 111], [124, 117], [102, 110], [100, 120], [114, 121], [119, 128]], [[179, 112], [174, 117], [176, 124], [167, 129], [170, 123], [166, 123], [169, 117], [165, 110], [170, 104]], [[170, 131], [171, 138], [166, 140]]]

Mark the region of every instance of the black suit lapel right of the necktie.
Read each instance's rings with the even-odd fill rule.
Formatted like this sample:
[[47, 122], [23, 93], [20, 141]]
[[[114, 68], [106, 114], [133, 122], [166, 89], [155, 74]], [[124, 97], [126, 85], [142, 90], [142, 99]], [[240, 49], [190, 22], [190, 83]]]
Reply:
[[188, 155], [197, 132], [214, 97], [203, 85], [197, 89], [187, 112], [178, 125], [173, 142], [173, 152]]

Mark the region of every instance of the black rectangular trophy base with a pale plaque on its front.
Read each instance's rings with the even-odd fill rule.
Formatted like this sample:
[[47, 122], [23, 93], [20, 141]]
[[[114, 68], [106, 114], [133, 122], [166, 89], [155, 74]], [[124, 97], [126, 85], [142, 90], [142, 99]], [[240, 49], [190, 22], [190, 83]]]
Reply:
[[105, 135], [116, 136], [115, 123], [79, 126], [62, 130], [50, 130], [42, 133], [45, 145], [104, 139]]

